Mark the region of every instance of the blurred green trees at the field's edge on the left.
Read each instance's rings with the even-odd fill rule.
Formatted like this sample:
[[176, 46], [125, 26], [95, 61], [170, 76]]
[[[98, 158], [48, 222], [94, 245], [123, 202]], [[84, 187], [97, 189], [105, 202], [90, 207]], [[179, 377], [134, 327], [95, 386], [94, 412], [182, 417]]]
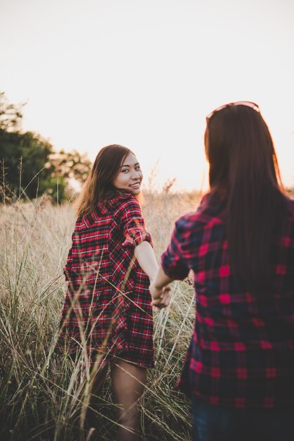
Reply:
[[40, 135], [22, 132], [22, 106], [9, 104], [0, 93], [1, 199], [46, 193], [53, 201], [63, 201], [70, 196], [70, 180], [84, 182], [91, 162], [77, 151], [55, 152]]

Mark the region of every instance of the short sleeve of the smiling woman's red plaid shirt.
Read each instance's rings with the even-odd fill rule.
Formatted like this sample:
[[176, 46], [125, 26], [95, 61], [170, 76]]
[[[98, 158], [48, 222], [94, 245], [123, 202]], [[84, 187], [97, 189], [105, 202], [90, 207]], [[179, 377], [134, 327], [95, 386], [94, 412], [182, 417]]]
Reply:
[[151, 234], [146, 230], [141, 207], [135, 198], [124, 204], [120, 225], [125, 237], [123, 247], [135, 248], [144, 241], [153, 245]]

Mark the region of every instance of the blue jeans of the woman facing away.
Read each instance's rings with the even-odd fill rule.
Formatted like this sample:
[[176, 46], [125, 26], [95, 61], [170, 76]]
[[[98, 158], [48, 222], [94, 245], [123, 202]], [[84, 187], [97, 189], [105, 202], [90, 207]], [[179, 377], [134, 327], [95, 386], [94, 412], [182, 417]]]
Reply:
[[233, 409], [192, 398], [193, 441], [294, 441], [294, 407]]

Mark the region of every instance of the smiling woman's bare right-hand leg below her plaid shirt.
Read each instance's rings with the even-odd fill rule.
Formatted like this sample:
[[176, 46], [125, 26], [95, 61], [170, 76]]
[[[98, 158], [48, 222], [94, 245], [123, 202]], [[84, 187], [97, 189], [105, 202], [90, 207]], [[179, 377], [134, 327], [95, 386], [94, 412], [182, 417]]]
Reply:
[[111, 366], [113, 392], [119, 406], [118, 422], [124, 426], [118, 428], [117, 441], [139, 441], [141, 439], [140, 414], [137, 403], [143, 394], [146, 378], [146, 368], [127, 363], [127, 361], [116, 361]]

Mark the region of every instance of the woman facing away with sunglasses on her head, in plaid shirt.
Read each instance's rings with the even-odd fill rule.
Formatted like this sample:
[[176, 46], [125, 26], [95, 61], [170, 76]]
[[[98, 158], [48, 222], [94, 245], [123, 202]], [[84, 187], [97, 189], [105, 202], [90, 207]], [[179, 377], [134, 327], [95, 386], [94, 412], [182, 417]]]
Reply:
[[[294, 439], [294, 201], [257, 104], [207, 116], [210, 192], [177, 221], [153, 304], [193, 270], [196, 323], [179, 387], [193, 440]], [[158, 300], [156, 300], [158, 298]]]

